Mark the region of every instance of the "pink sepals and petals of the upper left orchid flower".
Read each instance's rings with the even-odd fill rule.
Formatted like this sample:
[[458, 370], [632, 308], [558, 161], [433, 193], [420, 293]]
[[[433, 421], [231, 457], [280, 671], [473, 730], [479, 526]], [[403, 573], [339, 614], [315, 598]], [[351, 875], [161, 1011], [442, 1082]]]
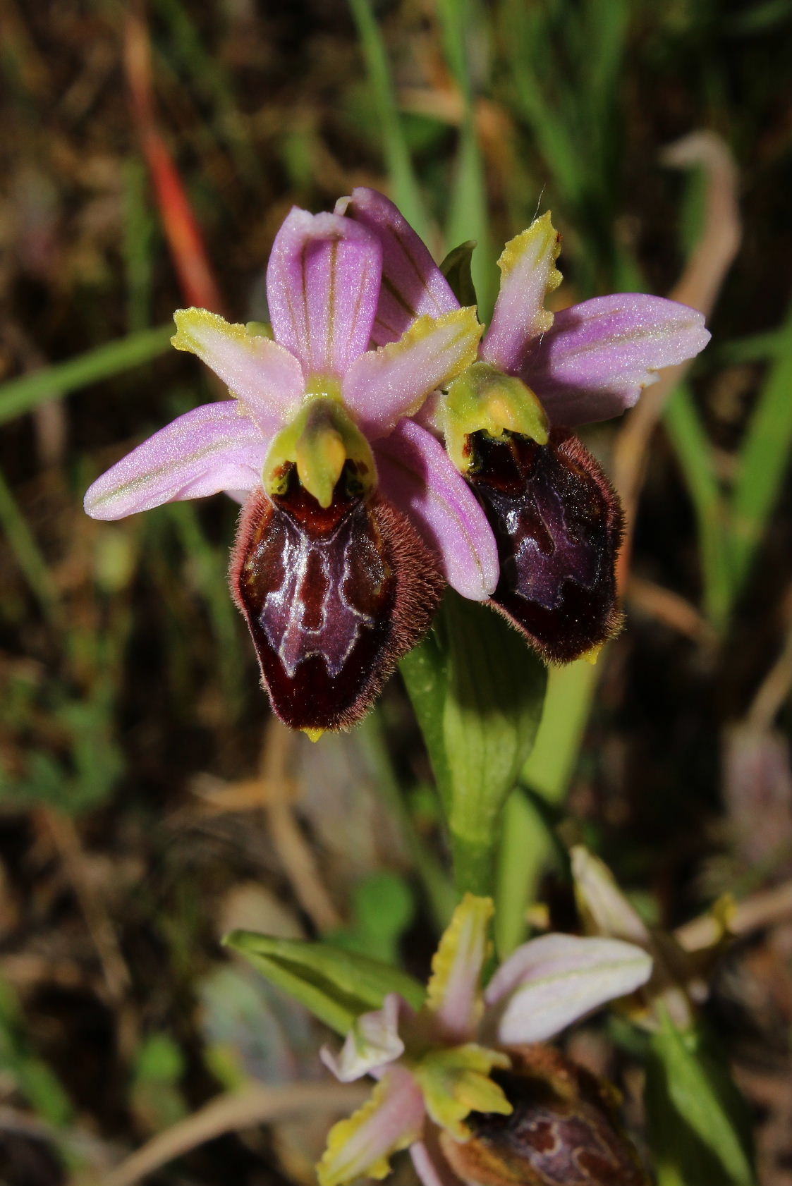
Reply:
[[410, 419], [474, 359], [481, 329], [474, 310], [455, 305], [411, 318], [369, 350], [381, 279], [382, 248], [365, 227], [294, 208], [267, 268], [274, 340], [179, 310], [173, 345], [196, 353], [234, 398], [194, 408], [139, 445], [91, 485], [87, 512], [117, 519], [221, 490], [243, 500], [272, 468], [277, 434], [324, 397], [369, 441], [379, 491], [413, 521], [448, 582], [484, 600], [498, 578], [492, 533], [442, 446]]

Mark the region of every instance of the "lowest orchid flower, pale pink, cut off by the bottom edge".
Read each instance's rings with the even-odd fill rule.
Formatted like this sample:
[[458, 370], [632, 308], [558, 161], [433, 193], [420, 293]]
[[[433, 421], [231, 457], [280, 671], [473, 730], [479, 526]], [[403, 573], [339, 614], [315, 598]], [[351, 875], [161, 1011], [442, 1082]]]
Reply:
[[[341, 1082], [377, 1083], [331, 1129], [320, 1186], [384, 1178], [391, 1154], [408, 1147], [424, 1186], [645, 1186], [606, 1090], [535, 1044], [646, 983], [651, 957], [618, 939], [545, 935], [518, 948], [483, 990], [492, 911], [488, 898], [462, 899], [419, 1012], [391, 993], [358, 1016], [339, 1054], [322, 1051]], [[563, 1159], [580, 1177], [555, 1177]]]

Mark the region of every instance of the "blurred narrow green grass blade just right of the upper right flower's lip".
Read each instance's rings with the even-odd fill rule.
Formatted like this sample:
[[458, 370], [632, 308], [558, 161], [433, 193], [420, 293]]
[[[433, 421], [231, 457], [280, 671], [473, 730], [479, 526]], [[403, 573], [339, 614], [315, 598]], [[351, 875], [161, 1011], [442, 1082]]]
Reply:
[[704, 613], [715, 631], [721, 632], [728, 623], [733, 597], [726, 504], [713, 449], [686, 384], [681, 384], [669, 400], [664, 425], [696, 514]]

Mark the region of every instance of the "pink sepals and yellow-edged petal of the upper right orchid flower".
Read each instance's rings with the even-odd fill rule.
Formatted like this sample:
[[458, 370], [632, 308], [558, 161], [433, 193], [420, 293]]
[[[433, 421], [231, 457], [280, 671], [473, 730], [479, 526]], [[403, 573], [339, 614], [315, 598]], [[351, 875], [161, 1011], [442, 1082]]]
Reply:
[[[372, 340], [394, 342], [415, 318], [459, 308], [446, 278], [400, 210], [359, 186], [336, 205], [368, 227], [382, 244], [383, 286]], [[658, 371], [704, 349], [703, 314], [644, 293], [595, 296], [553, 314], [544, 308], [558, 287], [560, 240], [545, 213], [506, 243], [498, 266], [500, 292], [479, 358], [520, 378], [550, 423], [574, 428], [631, 408]]]

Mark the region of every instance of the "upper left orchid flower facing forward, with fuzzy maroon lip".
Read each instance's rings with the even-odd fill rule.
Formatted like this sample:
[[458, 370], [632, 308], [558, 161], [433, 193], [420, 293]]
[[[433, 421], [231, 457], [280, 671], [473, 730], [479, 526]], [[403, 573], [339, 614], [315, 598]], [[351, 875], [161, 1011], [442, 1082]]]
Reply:
[[266, 330], [174, 314], [231, 400], [179, 416], [85, 495], [94, 518], [225, 490], [244, 503], [231, 561], [275, 713], [317, 737], [365, 712], [421, 638], [443, 579], [486, 599], [492, 533], [414, 414], [475, 358], [475, 311], [410, 320], [369, 350], [382, 248], [338, 215], [293, 209], [267, 268]]

